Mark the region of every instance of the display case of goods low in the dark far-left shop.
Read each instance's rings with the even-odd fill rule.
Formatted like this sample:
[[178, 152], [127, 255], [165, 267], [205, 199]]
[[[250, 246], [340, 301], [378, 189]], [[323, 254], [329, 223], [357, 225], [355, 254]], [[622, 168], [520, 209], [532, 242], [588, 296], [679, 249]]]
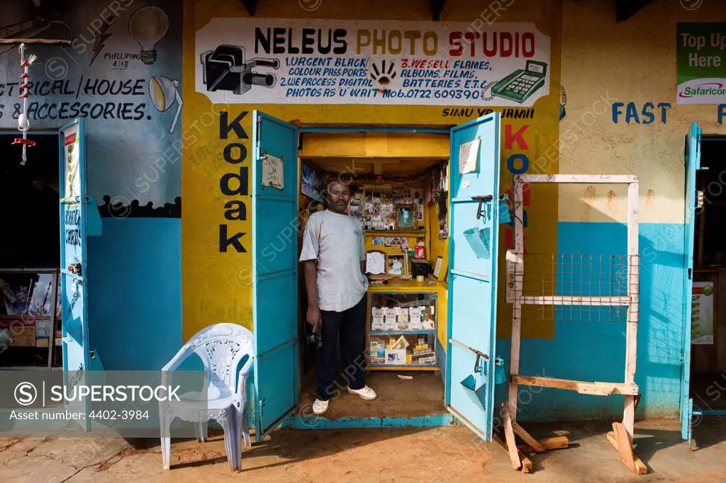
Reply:
[[[0, 269], [0, 368], [51, 368], [58, 269]], [[58, 349], [56, 348], [58, 352]]]

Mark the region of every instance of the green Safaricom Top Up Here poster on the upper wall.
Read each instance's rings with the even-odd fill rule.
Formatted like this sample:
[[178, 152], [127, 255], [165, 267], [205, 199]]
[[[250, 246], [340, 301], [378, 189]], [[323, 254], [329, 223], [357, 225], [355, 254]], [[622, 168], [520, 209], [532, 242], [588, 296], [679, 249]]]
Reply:
[[726, 22], [678, 23], [677, 104], [726, 102]]

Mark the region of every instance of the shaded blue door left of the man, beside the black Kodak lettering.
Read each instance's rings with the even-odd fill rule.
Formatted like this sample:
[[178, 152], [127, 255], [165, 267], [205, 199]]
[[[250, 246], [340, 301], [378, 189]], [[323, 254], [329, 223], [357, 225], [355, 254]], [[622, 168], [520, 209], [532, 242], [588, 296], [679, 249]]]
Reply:
[[253, 112], [256, 439], [298, 404], [298, 130]]

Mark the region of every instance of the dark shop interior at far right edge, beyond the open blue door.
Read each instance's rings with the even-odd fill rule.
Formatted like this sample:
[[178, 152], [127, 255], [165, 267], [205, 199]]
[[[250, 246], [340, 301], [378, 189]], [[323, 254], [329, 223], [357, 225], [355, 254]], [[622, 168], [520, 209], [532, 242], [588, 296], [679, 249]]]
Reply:
[[690, 393], [694, 409], [701, 410], [726, 409], [725, 154], [726, 136], [702, 136], [701, 168], [706, 169], [696, 170], [703, 199], [693, 241], [690, 358]]

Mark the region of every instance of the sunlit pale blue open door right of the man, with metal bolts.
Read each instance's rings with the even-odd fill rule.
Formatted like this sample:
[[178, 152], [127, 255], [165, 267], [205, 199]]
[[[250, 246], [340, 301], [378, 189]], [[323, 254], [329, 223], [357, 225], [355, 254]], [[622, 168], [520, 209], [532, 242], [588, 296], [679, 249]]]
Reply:
[[446, 407], [492, 439], [499, 226], [499, 113], [451, 131]]

